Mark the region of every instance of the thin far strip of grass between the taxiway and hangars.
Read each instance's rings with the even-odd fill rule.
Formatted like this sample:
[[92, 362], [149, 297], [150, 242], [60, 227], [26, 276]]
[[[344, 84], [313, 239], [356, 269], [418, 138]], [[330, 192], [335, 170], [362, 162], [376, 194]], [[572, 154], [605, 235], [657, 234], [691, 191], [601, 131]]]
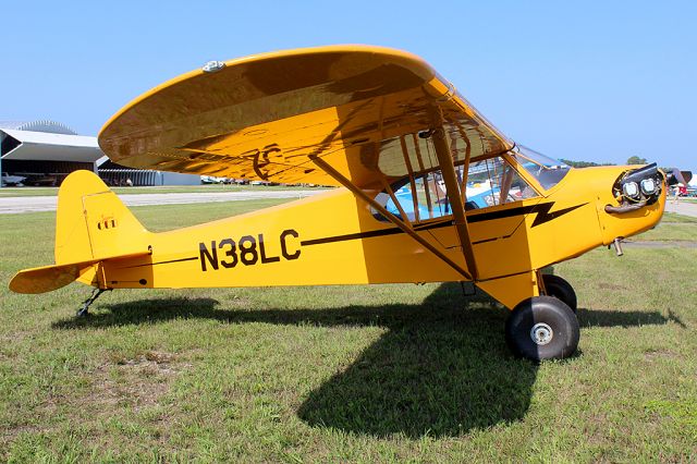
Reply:
[[[119, 195], [123, 194], [149, 194], [149, 193], [217, 193], [217, 192], [267, 192], [267, 191], [293, 191], [308, 190], [307, 186], [289, 186], [289, 185], [164, 185], [151, 187], [111, 187]], [[326, 187], [314, 187], [326, 188]], [[0, 188], [1, 197], [17, 196], [56, 196], [58, 187], [2, 187]]]

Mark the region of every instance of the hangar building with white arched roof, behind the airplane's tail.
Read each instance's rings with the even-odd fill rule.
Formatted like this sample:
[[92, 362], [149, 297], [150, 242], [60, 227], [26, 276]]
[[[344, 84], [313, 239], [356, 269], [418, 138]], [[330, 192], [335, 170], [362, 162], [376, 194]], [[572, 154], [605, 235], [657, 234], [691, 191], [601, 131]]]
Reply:
[[109, 185], [198, 185], [192, 174], [148, 171], [115, 164], [105, 156], [97, 137], [77, 135], [54, 121], [0, 121], [0, 170], [21, 175], [28, 185], [60, 185], [68, 174], [86, 169]]

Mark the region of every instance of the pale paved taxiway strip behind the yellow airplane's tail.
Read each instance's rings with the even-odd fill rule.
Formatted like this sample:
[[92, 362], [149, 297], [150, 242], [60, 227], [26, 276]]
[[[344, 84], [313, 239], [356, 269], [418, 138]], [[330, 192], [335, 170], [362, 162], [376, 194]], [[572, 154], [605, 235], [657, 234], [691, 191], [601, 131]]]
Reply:
[[[217, 193], [124, 194], [119, 198], [126, 206], [181, 205], [186, 203], [244, 202], [267, 198], [304, 198], [326, 190], [311, 191], [260, 191]], [[58, 196], [22, 196], [0, 198], [0, 215], [54, 211]]]

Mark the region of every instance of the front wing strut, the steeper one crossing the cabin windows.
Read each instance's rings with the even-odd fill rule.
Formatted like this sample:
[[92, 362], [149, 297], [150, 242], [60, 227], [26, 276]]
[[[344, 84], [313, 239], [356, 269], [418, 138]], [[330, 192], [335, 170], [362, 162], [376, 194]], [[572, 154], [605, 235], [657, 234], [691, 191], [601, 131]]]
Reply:
[[[462, 253], [465, 256], [467, 268], [472, 272], [473, 280], [477, 280], [477, 262], [475, 261], [475, 253], [472, 247], [472, 240], [469, 239], [469, 228], [467, 227], [467, 218], [465, 217], [465, 205], [460, 196], [460, 184], [457, 183], [457, 174], [455, 173], [455, 164], [453, 163], [453, 157], [450, 151], [450, 146], [445, 139], [445, 132], [443, 131], [442, 115], [439, 110], [435, 110], [435, 125], [438, 127], [433, 131], [431, 138], [433, 139], [433, 147], [436, 147], [436, 155], [438, 156], [438, 163], [440, 164], [440, 171], [443, 175], [443, 182], [445, 182], [445, 190], [448, 200], [450, 202], [450, 209], [453, 211], [453, 225], [457, 231], [457, 237], [462, 245]], [[469, 166], [469, 152], [465, 159], [465, 166]], [[463, 178], [466, 182], [467, 173], [463, 172]], [[466, 188], [466, 184], [465, 184]]]

